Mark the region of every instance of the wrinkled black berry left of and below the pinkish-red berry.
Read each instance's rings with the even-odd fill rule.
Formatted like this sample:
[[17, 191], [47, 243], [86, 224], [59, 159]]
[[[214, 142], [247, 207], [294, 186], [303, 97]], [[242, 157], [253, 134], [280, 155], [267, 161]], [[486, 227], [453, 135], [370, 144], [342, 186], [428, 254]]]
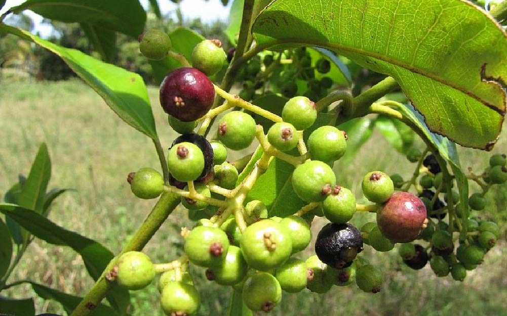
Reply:
[[322, 227], [315, 241], [315, 254], [320, 261], [337, 269], [348, 267], [361, 251], [361, 233], [350, 224], [329, 223]]

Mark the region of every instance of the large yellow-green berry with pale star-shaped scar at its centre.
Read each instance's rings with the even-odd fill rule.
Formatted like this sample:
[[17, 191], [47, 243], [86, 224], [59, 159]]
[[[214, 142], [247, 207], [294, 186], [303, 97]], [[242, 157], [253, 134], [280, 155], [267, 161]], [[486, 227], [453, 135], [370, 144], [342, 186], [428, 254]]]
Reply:
[[240, 247], [250, 267], [267, 271], [279, 266], [291, 255], [291, 234], [274, 220], [261, 220], [246, 227]]

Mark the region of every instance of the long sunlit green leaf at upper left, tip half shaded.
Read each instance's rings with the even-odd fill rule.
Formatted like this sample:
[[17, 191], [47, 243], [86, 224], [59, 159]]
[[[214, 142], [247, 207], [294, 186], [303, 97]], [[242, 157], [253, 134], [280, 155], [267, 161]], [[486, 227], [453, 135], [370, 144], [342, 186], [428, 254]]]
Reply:
[[78, 50], [60, 47], [15, 27], [0, 24], [1, 31], [32, 41], [60, 56], [123, 121], [152, 139], [157, 139], [148, 90], [141, 76]]

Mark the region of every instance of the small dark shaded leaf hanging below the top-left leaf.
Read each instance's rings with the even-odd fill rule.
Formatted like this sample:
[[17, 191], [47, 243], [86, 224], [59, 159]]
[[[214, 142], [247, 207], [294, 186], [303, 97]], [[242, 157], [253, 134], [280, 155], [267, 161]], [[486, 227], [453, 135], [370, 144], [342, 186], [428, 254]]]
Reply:
[[106, 62], [113, 62], [116, 57], [116, 32], [84, 22], [81, 23], [81, 28], [102, 59]]

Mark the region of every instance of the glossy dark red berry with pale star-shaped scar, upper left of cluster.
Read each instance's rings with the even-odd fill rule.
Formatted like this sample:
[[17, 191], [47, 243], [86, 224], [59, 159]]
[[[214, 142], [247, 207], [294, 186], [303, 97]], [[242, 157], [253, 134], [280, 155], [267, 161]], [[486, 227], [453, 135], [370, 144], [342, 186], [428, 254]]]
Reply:
[[196, 68], [178, 68], [160, 85], [160, 104], [179, 121], [191, 122], [208, 112], [215, 90], [208, 77]]

